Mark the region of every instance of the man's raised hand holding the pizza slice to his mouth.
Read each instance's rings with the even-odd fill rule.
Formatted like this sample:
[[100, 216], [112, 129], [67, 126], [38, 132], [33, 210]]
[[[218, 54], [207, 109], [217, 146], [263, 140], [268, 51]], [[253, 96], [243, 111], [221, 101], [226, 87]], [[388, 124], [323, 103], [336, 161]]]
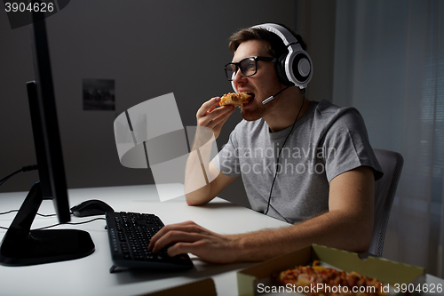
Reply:
[[197, 126], [210, 128], [214, 132], [215, 139], [218, 139], [222, 126], [235, 109], [234, 106], [216, 108], [218, 107], [219, 101], [220, 97], [207, 100], [196, 113]]

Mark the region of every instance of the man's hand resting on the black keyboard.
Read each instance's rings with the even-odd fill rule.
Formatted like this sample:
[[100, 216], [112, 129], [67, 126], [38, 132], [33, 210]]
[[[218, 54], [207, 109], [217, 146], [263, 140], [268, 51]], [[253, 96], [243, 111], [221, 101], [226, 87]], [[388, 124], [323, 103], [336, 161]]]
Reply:
[[202, 228], [193, 221], [170, 224], [151, 238], [149, 250], [159, 252], [163, 246], [173, 244], [168, 248], [168, 254], [191, 252], [204, 261], [213, 263], [231, 263], [236, 261], [237, 236], [223, 236]]

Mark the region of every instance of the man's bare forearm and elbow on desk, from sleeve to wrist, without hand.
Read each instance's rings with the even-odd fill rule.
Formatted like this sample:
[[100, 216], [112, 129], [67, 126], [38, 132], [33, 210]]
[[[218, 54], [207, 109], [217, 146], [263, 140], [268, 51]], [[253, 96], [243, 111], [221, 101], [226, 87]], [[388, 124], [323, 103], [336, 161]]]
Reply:
[[[330, 182], [329, 212], [289, 228], [240, 236], [242, 260], [266, 260], [310, 244], [365, 252], [373, 231], [373, 171], [360, 167]], [[272, 247], [270, 247], [272, 246]]]

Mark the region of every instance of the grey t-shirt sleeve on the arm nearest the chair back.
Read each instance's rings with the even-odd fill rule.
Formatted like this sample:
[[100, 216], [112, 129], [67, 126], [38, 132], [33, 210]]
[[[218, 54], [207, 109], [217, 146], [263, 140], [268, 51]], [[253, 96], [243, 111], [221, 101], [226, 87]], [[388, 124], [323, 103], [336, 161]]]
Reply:
[[371, 167], [375, 180], [383, 176], [381, 166], [369, 143], [364, 120], [354, 108], [345, 111], [331, 124], [322, 148], [329, 182], [337, 175], [360, 166]]

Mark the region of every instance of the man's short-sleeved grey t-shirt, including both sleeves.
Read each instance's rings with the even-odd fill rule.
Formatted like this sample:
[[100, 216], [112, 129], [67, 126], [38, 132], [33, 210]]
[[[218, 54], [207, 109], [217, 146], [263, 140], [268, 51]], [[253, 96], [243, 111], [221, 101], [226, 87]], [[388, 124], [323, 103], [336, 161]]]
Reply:
[[270, 132], [262, 118], [242, 120], [213, 159], [220, 172], [242, 176], [255, 211], [266, 212], [276, 171], [267, 214], [290, 223], [329, 211], [329, 181], [337, 175], [361, 165], [373, 168], [376, 180], [383, 174], [355, 108], [312, 101], [290, 131]]

